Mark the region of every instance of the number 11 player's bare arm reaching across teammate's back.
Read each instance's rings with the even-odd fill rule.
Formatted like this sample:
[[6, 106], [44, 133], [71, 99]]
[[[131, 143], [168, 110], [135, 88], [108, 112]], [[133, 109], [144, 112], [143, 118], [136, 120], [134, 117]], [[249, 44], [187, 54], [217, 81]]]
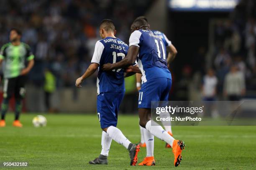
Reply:
[[133, 63], [136, 61], [136, 58], [138, 56], [138, 52], [139, 52], [139, 47], [135, 45], [131, 45], [129, 47], [126, 57], [123, 60], [113, 64], [110, 64], [110, 63], [104, 64], [102, 66], [102, 70], [108, 71], [108, 70], [113, 70], [118, 68], [126, 68], [130, 65], [133, 65]]

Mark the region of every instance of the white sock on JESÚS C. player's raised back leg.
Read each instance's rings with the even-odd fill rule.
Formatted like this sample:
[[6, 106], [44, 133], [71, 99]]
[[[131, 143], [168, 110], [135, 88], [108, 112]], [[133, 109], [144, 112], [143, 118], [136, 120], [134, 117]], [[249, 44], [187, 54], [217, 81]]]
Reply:
[[125, 138], [121, 130], [114, 126], [110, 126], [108, 127], [107, 133], [113, 140], [115, 140], [115, 142], [122, 144], [126, 149], [128, 149], [128, 146], [131, 142]]

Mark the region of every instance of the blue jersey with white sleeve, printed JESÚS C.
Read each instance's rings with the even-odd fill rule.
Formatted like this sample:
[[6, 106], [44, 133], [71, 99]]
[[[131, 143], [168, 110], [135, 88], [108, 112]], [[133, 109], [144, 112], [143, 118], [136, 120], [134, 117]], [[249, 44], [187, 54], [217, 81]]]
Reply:
[[128, 45], [119, 38], [106, 37], [96, 42], [92, 63], [98, 63], [97, 95], [101, 92], [124, 92], [124, 70], [103, 71], [101, 66], [122, 60], [128, 52]]

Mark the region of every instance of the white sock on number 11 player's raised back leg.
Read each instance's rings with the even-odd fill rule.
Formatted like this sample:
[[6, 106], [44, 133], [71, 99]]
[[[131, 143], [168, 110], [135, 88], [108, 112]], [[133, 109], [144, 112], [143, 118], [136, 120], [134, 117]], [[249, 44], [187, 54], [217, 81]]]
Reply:
[[[153, 123], [153, 125], [151, 125]], [[153, 120], [149, 120], [146, 123], [146, 129], [154, 136], [159, 138], [160, 140], [164, 140], [166, 143], [172, 146], [174, 138], [172, 138], [169, 133], [167, 133], [158, 123]]]

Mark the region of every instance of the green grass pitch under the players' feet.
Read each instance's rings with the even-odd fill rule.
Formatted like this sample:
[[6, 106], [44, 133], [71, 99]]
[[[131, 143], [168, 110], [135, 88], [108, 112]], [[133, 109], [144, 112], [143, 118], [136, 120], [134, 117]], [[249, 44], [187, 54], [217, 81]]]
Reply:
[[[109, 165], [89, 165], [101, 151], [101, 129], [97, 115], [45, 115], [45, 128], [34, 128], [35, 114], [21, 115], [23, 128], [12, 127], [13, 114], [0, 128], [0, 162], [29, 162], [24, 170], [251, 170], [256, 169], [256, 126], [175, 126], [174, 138], [187, 145], [178, 168], [173, 165], [171, 149], [155, 138], [155, 167], [131, 167], [128, 151], [115, 141]], [[133, 143], [140, 140], [137, 115], [120, 115], [118, 128]], [[146, 148], [141, 148], [138, 161]]]

